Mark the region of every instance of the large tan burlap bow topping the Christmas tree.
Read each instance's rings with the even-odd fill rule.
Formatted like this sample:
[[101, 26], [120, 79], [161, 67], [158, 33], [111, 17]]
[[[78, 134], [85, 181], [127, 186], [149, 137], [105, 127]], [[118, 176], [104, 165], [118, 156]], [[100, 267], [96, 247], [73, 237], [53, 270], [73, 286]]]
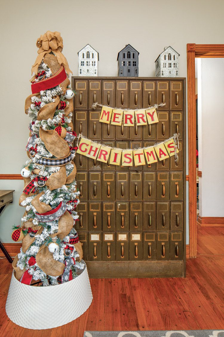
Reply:
[[59, 32], [47, 31], [44, 35], [41, 35], [37, 39], [36, 45], [39, 48], [38, 50], [39, 55], [37, 56], [37, 59], [34, 65], [32, 66], [32, 69], [31, 69], [32, 73], [35, 72], [35, 74], [37, 75], [38, 66], [40, 65], [44, 55], [50, 52], [53, 52], [56, 55], [58, 63], [60, 65], [61, 64], [63, 65], [64, 69], [66, 70], [68, 74], [70, 72], [72, 73], [72, 71], [69, 68], [68, 61], [66, 60], [64, 55], [61, 53], [63, 49], [63, 40]]

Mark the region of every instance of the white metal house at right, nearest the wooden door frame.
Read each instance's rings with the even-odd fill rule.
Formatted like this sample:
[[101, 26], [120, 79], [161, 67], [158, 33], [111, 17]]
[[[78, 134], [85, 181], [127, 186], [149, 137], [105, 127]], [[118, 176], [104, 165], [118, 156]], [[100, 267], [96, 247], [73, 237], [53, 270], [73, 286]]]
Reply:
[[179, 56], [172, 47], [165, 47], [155, 60], [155, 77], [178, 77]]

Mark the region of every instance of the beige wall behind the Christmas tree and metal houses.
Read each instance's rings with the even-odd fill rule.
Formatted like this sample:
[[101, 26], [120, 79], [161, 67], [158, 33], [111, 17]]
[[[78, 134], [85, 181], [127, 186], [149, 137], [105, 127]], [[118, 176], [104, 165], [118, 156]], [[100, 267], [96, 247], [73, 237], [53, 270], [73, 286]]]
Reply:
[[[1, 2], [1, 167], [18, 174], [27, 159], [29, 119], [25, 98], [31, 93], [31, 66], [36, 39], [47, 30], [59, 31], [63, 53], [78, 74], [77, 52], [87, 43], [99, 52], [99, 76], [117, 75], [117, 54], [130, 43], [139, 55], [139, 76], [154, 76], [154, 61], [165, 46], [180, 54], [179, 74], [187, 75], [187, 43], [223, 43], [224, 2], [216, 0], [3, 0]], [[19, 223], [20, 182], [0, 181], [16, 189], [14, 203], [0, 219], [0, 239], [11, 241], [11, 225]], [[188, 240], [188, 239], [187, 239]]]

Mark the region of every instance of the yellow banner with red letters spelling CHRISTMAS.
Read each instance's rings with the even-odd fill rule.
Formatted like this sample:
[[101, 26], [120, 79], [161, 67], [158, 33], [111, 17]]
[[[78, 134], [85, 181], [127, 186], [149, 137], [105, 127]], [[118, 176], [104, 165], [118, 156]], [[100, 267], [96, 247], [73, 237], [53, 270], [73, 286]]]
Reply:
[[157, 162], [158, 159], [161, 161], [174, 155], [177, 158], [179, 151], [176, 140], [178, 140], [178, 135], [174, 134], [171, 138], [153, 146], [123, 150], [93, 142], [81, 135], [76, 152], [103, 163], [109, 162], [111, 165], [139, 166], [145, 165], [145, 161], [147, 164], [152, 164]]

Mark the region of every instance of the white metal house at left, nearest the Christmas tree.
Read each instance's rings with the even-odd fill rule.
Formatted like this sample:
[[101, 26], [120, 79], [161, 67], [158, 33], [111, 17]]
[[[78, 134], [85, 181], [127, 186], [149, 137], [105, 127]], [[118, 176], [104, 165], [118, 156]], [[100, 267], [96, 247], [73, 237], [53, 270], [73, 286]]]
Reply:
[[78, 52], [79, 76], [98, 76], [99, 53], [87, 44]]

